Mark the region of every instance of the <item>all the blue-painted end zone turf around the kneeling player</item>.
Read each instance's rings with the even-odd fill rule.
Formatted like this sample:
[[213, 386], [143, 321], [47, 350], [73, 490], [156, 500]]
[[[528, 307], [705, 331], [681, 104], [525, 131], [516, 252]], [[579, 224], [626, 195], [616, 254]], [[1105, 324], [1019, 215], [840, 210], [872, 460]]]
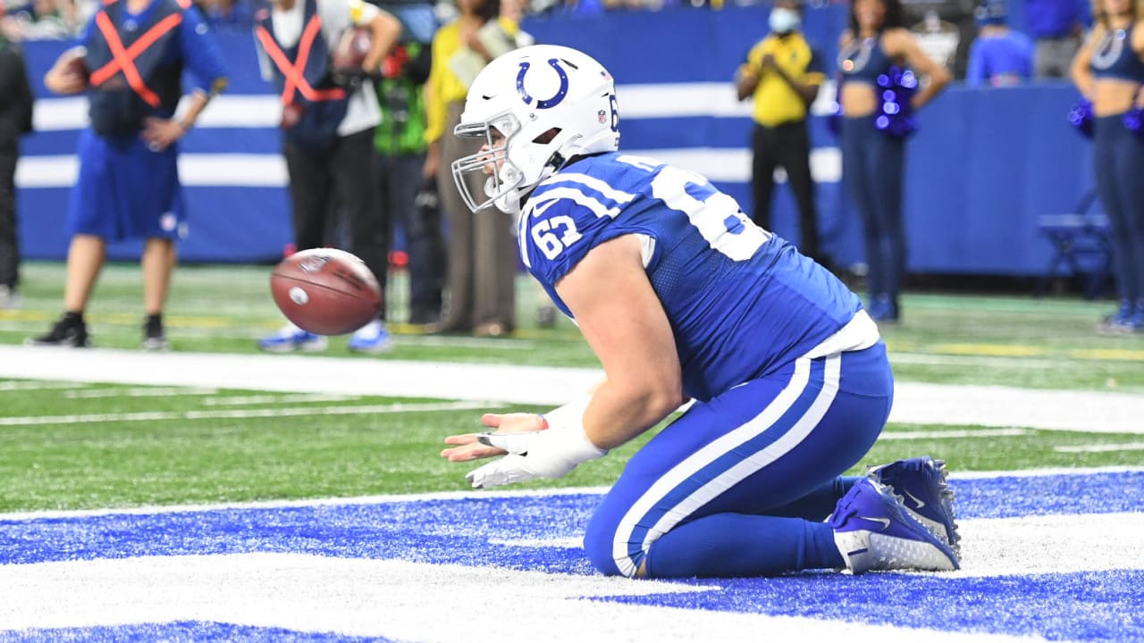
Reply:
[[[1144, 471], [954, 481], [952, 486], [960, 518], [1144, 510]], [[579, 548], [490, 541], [579, 538], [597, 502], [596, 495], [472, 498], [7, 521], [0, 522], [0, 563], [276, 551], [589, 574]], [[606, 600], [1050, 640], [1144, 641], [1144, 570], [988, 578], [823, 572], [715, 585], [722, 589]], [[135, 627], [188, 632], [185, 637], [180, 630], [158, 633], [173, 640], [281, 638], [259, 628], [215, 632], [231, 627], [217, 624]], [[73, 632], [95, 640], [133, 638], [132, 628], [104, 628], [98, 636], [84, 628], [53, 630], [33, 640]], [[138, 634], [148, 637], [145, 630]], [[325, 640], [299, 636], [311, 637], [294, 640]]]

